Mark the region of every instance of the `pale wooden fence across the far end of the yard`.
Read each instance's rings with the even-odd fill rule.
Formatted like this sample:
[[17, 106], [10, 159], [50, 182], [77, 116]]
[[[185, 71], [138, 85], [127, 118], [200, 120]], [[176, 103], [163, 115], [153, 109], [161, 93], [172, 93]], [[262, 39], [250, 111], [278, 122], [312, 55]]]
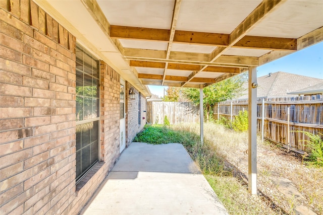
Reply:
[[147, 122], [163, 124], [167, 116], [171, 124], [199, 123], [199, 107], [191, 102], [147, 102]]

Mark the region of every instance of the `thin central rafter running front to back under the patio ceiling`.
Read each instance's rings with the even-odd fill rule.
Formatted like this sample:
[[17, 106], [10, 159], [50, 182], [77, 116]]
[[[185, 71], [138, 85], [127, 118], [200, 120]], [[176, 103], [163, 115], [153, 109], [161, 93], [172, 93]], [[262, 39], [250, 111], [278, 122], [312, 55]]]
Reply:
[[[173, 45], [173, 40], [174, 40], [174, 35], [175, 35], [175, 28], [176, 28], [176, 24], [177, 24], [178, 15], [180, 13], [181, 3], [182, 3], [182, 0], [175, 0], [175, 3], [174, 3], [174, 11], [173, 11], [170, 39], [168, 42], [167, 53], [166, 53], [167, 60], [170, 58], [170, 54], [171, 54], [171, 50], [172, 50], [172, 45]], [[168, 62], [166, 62], [166, 64], [165, 64], [163, 82], [161, 82], [161, 85], [164, 84], [166, 73], [167, 73], [167, 67], [168, 67]]]

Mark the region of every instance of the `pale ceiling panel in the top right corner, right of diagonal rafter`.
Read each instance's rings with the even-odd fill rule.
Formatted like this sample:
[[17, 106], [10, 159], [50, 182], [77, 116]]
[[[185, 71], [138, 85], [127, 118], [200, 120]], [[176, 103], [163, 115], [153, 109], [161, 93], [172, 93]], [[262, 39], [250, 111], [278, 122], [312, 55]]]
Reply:
[[322, 0], [286, 1], [281, 4], [248, 35], [299, 38], [323, 25]]

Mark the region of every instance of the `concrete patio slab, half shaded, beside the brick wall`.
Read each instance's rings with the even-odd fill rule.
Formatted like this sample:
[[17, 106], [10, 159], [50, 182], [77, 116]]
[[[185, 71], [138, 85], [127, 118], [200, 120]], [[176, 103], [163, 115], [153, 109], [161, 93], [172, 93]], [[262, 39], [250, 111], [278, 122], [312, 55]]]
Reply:
[[228, 214], [181, 144], [133, 142], [83, 214]]

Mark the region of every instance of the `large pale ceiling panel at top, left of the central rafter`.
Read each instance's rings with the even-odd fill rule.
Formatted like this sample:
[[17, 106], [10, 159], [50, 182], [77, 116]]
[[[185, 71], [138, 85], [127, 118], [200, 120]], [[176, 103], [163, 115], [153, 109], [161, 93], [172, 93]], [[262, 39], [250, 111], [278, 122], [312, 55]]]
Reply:
[[174, 0], [97, 1], [111, 25], [170, 29]]

